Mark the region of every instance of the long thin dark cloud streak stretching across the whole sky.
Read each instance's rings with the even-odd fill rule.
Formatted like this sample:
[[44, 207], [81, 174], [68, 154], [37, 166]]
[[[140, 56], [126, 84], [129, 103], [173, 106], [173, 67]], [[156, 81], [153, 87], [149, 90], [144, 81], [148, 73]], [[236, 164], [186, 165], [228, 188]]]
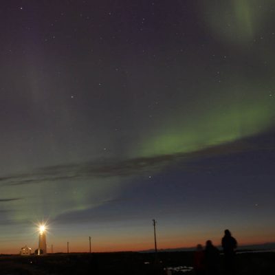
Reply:
[[275, 148], [275, 144], [263, 144], [261, 142], [261, 146], [259, 146], [253, 139], [240, 140], [191, 153], [175, 153], [131, 159], [99, 159], [92, 162], [46, 166], [32, 170], [31, 173], [1, 177], [0, 183], [2, 186], [19, 186], [41, 183], [50, 184], [51, 182], [61, 180], [89, 179], [91, 177], [131, 177], [157, 172], [171, 164], [179, 164], [182, 169], [200, 170], [201, 167], [192, 166], [192, 162], [196, 159], [232, 155], [248, 151], [274, 150]]

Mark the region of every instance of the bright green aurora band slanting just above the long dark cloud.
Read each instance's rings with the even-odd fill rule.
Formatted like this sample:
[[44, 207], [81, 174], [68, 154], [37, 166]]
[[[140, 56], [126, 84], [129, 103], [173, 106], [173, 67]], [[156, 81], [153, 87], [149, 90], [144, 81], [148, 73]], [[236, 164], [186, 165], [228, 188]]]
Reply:
[[170, 120], [157, 135], [144, 142], [141, 156], [190, 153], [261, 133], [273, 124], [272, 101], [267, 98], [242, 106], [229, 104], [226, 109], [213, 109], [184, 124]]

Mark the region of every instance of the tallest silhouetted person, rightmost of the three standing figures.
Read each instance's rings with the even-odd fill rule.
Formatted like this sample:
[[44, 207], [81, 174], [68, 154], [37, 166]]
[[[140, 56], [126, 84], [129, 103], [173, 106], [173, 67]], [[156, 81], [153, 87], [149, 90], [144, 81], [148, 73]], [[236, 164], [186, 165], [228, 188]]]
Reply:
[[221, 239], [221, 246], [223, 247], [225, 269], [228, 271], [234, 270], [235, 267], [235, 250], [236, 250], [236, 239], [231, 236], [228, 229], [224, 230], [223, 239]]

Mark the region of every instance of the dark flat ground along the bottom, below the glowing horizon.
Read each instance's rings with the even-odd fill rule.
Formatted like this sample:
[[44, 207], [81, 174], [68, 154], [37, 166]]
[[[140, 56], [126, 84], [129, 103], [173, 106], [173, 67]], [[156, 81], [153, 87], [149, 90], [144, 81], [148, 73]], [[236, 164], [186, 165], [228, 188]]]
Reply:
[[[0, 256], [1, 275], [57, 274], [165, 274], [164, 267], [192, 267], [193, 252], [161, 252], [158, 267], [154, 254], [137, 252], [49, 254], [45, 256]], [[221, 274], [223, 271], [221, 255]], [[172, 274], [193, 274], [173, 272]], [[237, 255], [237, 270], [233, 274], [275, 274], [275, 253], [254, 252]]]

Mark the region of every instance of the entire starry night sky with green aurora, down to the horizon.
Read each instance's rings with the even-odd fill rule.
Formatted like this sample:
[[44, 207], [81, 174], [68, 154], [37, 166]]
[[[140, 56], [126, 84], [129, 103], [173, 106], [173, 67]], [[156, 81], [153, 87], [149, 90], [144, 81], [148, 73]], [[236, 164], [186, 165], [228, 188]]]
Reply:
[[272, 0], [3, 0], [0, 253], [275, 241]]

